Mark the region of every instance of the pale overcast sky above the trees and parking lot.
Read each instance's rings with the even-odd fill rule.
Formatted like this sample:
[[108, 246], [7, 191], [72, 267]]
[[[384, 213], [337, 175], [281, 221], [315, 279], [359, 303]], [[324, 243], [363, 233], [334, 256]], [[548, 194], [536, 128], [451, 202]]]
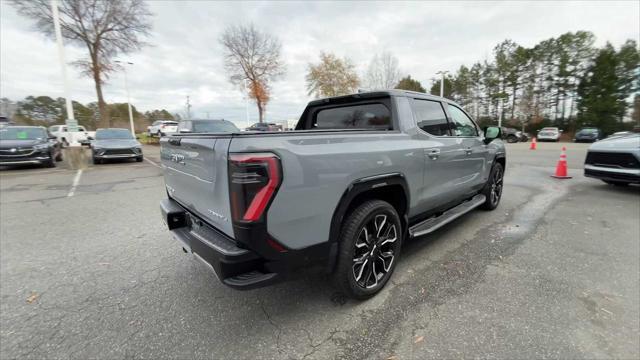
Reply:
[[[304, 77], [320, 51], [347, 56], [364, 72], [373, 54], [387, 50], [403, 74], [426, 87], [438, 70], [453, 71], [491, 57], [495, 44], [510, 38], [523, 46], [567, 31], [588, 30], [597, 45], [616, 46], [640, 37], [640, 1], [585, 2], [207, 2], [149, 1], [151, 46], [121, 57], [130, 68], [132, 103], [142, 111], [165, 108], [245, 124], [245, 101], [224, 73], [218, 38], [226, 25], [253, 22], [282, 42], [286, 75], [273, 84], [267, 119], [292, 119], [304, 109]], [[32, 22], [0, 1], [0, 96], [63, 96], [55, 43], [33, 30]], [[66, 45], [67, 60], [85, 49]], [[71, 97], [96, 101], [90, 78], [71, 66]], [[107, 102], [125, 102], [124, 78], [112, 76]], [[257, 119], [255, 105], [249, 107]]]

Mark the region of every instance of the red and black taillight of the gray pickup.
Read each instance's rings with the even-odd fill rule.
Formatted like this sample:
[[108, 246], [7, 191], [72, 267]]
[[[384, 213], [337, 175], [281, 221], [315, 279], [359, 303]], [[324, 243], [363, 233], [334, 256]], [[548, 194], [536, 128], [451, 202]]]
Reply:
[[229, 154], [229, 196], [233, 220], [260, 220], [281, 180], [280, 159], [275, 154]]

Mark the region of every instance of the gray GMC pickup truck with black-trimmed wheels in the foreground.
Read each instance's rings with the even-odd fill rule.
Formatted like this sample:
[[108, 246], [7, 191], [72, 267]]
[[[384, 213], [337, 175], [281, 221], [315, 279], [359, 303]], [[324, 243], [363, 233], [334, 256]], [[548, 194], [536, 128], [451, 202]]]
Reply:
[[228, 286], [265, 286], [313, 267], [365, 299], [391, 277], [403, 240], [498, 206], [500, 136], [422, 93], [315, 100], [295, 131], [163, 138], [162, 216], [183, 250]]

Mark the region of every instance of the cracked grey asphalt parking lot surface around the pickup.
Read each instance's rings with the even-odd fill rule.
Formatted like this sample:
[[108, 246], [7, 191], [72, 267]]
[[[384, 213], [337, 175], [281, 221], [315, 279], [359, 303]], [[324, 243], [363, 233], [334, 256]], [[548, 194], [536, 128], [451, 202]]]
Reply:
[[[561, 145], [570, 180], [549, 176]], [[407, 243], [366, 302], [324, 275], [218, 283], [162, 224], [156, 147], [2, 169], [0, 358], [640, 357], [640, 187], [584, 178], [587, 144], [528, 146], [508, 145], [496, 211]]]

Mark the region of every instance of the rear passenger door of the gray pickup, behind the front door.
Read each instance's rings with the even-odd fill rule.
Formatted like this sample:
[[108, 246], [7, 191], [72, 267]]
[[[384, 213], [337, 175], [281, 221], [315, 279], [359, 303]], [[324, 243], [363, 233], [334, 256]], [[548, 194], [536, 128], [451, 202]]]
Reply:
[[417, 212], [426, 212], [456, 197], [456, 184], [460, 177], [456, 161], [462, 155], [462, 148], [459, 139], [451, 136], [440, 101], [413, 99], [411, 104], [425, 164], [422, 188], [417, 194]]

